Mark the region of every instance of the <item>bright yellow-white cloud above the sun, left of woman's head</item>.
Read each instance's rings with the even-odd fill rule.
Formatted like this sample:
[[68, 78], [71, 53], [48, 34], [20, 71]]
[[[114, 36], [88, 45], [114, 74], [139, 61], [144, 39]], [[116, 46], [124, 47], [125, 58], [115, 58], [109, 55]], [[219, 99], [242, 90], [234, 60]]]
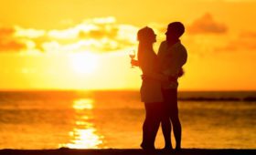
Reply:
[[[106, 17], [88, 19], [64, 30], [49, 31], [48, 37], [54, 40], [53, 47], [60, 51], [110, 52], [134, 46], [136, 32], [137, 27], [116, 24], [115, 18]], [[48, 50], [49, 44], [44, 43], [43, 47]]]

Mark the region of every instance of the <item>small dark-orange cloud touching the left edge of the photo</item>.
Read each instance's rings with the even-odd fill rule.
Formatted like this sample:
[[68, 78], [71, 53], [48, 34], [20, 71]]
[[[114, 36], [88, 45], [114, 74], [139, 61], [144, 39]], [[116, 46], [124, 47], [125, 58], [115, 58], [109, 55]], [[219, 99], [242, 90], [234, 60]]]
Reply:
[[15, 28], [0, 27], [0, 52], [16, 52], [27, 48], [15, 33]]

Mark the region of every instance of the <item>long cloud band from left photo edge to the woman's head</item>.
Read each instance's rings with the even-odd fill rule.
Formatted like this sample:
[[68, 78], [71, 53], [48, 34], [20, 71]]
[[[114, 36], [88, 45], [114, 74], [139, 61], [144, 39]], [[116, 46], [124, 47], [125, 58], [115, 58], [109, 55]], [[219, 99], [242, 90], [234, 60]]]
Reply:
[[136, 44], [137, 27], [117, 24], [114, 17], [92, 18], [66, 29], [2, 28], [0, 51], [111, 52]]

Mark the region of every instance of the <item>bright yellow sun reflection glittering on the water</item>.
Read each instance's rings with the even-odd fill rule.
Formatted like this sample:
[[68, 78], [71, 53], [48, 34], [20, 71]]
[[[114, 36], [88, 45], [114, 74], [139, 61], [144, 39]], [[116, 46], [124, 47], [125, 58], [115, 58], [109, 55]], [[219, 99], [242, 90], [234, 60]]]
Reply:
[[71, 149], [97, 149], [102, 143], [102, 136], [97, 135], [97, 129], [91, 122], [93, 115], [94, 100], [91, 98], [80, 98], [73, 101], [72, 108], [75, 109], [76, 117], [75, 127], [69, 132], [70, 141], [60, 147]]

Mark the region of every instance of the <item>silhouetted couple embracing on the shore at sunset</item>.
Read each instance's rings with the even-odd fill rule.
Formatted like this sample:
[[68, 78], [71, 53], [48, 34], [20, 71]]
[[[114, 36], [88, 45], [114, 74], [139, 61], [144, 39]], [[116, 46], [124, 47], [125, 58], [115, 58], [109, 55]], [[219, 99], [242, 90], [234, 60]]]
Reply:
[[132, 59], [133, 66], [140, 67], [143, 81], [140, 89], [144, 102], [143, 150], [155, 150], [155, 137], [161, 124], [165, 139], [164, 150], [173, 150], [172, 127], [176, 140], [176, 150], [181, 150], [181, 123], [177, 107], [177, 78], [181, 77], [183, 65], [187, 62], [187, 50], [181, 44], [180, 36], [185, 27], [180, 22], [170, 23], [165, 32], [166, 39], [159, 47], [157, 55], [153, 49], [156, 35], [152, 28], [144, 27], [137, 33], [138, 60]]

